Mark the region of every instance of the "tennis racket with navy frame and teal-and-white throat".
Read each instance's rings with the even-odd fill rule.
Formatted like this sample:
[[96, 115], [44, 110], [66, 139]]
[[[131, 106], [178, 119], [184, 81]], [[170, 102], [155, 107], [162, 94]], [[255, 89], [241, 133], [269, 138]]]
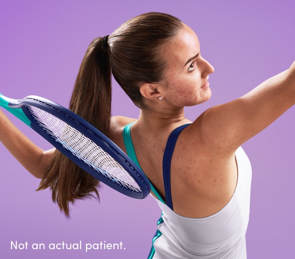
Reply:
[[113, 141], [77, 114], [37, 96], [16, 100], [0, 94], [0, 106], [116, 191], [138, 199], [150, 193], [148, 178], [141, 169]]

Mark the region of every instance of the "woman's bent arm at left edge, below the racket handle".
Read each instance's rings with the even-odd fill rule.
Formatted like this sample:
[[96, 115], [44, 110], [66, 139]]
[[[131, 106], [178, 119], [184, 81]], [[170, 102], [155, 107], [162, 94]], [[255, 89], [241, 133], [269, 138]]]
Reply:
[[43, 177], [46, 166], [52, 158], [55, 149], [43, 151], [33, 144], [1, 110], [0, 141], [33, 176], [37, 178]]

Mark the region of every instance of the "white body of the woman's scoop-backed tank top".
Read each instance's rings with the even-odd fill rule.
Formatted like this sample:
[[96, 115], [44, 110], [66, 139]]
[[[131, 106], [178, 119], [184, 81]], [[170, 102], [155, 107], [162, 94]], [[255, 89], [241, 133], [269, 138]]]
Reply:
[[252, 170], [240, 147], [236, 151], [238, 180], [228, 204], [206, 218], [179, 216], [156, 199], [162, 209], [162, 233], [153, 242], [153, 259], [246, 259], [245, 235], [250, 212]]

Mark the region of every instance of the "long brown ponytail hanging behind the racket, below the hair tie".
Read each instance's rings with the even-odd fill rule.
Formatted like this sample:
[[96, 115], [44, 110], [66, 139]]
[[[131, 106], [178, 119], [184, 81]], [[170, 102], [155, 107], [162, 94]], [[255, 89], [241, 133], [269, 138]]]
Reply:
[[[109, 135], [112, 98], [108, 52], [103, 48], [102, 38], [91, 42], [82, 61], [69, 105], [71, 111], [105, 135]], [[69, 203], [91, 196], [99, 199], [98, 187], [97, 179], [56, 150], [37, 191], [50, 188], [53, 201], [69, 217]]]

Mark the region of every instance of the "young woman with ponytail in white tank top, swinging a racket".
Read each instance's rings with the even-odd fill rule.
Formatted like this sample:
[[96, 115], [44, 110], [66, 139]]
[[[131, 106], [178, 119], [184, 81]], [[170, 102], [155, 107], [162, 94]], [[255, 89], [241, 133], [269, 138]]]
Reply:
[[[77, 76], [70, 109], [138, 162], [163, 211], [149, 258], [246, 258], [251, 165], [240, 145], [295, 103], [295, 63], [191, 122], [184, 107], [210, 98], [213, 71], [195, 32], [171, 15], [147, 13], [94, 39]], [[111, 118], [112, 74], [140, 108], [138, 119]], [[65, 215], [70, 202], [98, 195], [97, 180], [32, 144], [2, 112], [0, 129], [1, 142]]]

